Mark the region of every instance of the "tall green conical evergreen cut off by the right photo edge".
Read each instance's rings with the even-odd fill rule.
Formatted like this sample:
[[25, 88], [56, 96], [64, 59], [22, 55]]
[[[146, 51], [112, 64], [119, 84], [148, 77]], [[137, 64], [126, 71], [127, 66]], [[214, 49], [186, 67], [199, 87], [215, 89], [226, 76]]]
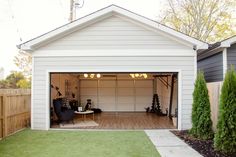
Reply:
[[221, 90], [219, 118], [214, 147], [225, 153], [236, 152], [236, 73], [226, 73]]

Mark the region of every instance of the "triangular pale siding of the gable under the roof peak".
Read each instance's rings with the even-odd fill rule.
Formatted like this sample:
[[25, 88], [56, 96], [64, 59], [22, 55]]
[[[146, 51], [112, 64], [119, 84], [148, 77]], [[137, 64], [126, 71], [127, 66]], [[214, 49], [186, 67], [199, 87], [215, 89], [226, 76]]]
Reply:
[[61, 37], [40, 50], [80, 49], [188, 49], [141, 24], [112, 16]]

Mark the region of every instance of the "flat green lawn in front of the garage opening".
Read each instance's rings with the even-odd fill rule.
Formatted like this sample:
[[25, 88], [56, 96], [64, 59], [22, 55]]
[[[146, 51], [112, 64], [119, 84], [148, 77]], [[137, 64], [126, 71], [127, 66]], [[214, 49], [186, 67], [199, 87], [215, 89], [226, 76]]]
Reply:
[[32, 131], [0, 141], [1, 157], [159, 157], [143, 131]]

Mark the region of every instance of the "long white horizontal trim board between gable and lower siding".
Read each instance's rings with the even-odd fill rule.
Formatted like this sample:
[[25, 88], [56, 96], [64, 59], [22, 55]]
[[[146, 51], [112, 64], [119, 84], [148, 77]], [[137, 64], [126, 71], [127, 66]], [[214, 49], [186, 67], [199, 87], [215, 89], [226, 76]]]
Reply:
[[117, 56], [117, 57], [135, 57], [135, 56], [195, 56], [193, 50], [36, 50], [32, 55], [34, 57], [67, 57], [67, 56]]

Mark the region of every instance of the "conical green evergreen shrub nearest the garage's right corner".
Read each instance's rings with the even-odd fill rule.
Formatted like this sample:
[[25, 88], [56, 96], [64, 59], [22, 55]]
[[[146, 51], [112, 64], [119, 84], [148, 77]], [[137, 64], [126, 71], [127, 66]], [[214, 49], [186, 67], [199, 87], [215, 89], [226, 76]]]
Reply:
[[203, 72], [198, 72], [195, 82], [190, 133], [200, 139], [213, 137], [210, 101]]

